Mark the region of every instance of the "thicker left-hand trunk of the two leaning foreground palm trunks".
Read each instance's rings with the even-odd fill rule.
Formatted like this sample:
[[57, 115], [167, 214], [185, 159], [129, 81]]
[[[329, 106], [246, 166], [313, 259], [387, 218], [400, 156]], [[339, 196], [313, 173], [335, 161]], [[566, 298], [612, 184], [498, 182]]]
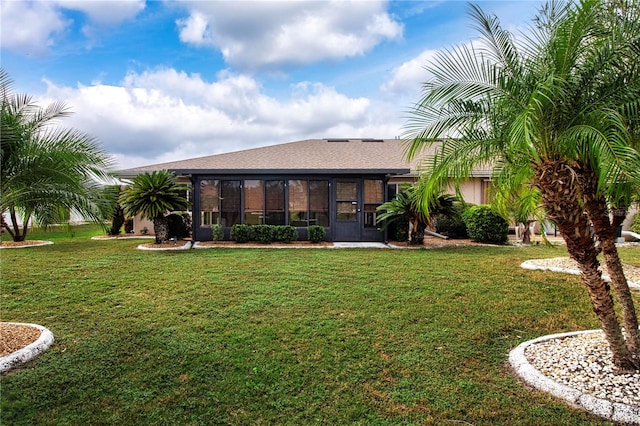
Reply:
[[609, 284], [602, 279], [598, 249], [590, 235], [575, 179], [574, 171], [562, 161], [551, 160], [536, 166], [535, 184], [542, 194], [543, 205], [549, 219], [558, 226], [570, 256], [578, 263], [582, 283], [613, 354], [613, 363], [622, 371], [634, 370], [638, 366], [625, 344]]

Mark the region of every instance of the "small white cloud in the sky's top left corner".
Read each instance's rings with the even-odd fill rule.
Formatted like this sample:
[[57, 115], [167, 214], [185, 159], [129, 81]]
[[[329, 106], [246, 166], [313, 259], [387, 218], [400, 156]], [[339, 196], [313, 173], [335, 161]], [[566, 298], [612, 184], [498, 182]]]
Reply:
[[57, 36], [71, 25], [53, 3], [3, 1], [0, 3], [2, 47], [26, 55], [42, 56]]

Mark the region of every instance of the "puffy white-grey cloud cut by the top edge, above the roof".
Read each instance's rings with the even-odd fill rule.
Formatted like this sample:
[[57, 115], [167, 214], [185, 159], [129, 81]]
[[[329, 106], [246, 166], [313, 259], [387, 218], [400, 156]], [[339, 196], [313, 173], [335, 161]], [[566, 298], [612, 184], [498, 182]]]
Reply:
[[381, 1], [188, 3], [183, 42], [215, 46], [240, 68], [308, 64], [363, 55], [403, 27]]

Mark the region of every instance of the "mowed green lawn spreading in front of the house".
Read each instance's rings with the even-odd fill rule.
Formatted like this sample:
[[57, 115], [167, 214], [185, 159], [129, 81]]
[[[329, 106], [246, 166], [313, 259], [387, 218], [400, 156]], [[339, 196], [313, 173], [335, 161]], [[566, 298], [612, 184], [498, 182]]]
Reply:
[[578, 277], [519, 267], [562, 247], [144, 252], [99, 233], [0, 252], [2, 321], [56, 339], [2, 377], [1, 424], [602, 424], [506, 366], [598, 328]]

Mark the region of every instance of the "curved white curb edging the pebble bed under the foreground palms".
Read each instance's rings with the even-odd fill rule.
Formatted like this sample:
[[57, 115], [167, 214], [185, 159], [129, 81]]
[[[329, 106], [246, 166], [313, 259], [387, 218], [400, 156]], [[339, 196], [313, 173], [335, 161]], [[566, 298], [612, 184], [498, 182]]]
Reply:
[[614, 422], [637, 424], [640, 425], [640, 408], [632, 407], [619, 402], [611, 402], [605, 399], [599, 399], [592, 395], [582, 393], [576, 389], [557, 383], [540, 371], [538, 371], [527, 360], [524, 351], [530, 345], [540, 343], [546, 340], [562, 339], [565, 337], [576, 336], [580, 334], [600, 333], [602, 330], [586, 330], [571, 333], [551, 334], [548, 336], [538, 337], [521, 343], [511, 352], [509, 352], [509, 363], [515, 370], [518, 377], [525, 383], [534, 388], [550, 393], [551, 395], [561, 398], [569, 403], [569, 405], [581, 408], [590, 413], [603, 418], [610, 419]]

